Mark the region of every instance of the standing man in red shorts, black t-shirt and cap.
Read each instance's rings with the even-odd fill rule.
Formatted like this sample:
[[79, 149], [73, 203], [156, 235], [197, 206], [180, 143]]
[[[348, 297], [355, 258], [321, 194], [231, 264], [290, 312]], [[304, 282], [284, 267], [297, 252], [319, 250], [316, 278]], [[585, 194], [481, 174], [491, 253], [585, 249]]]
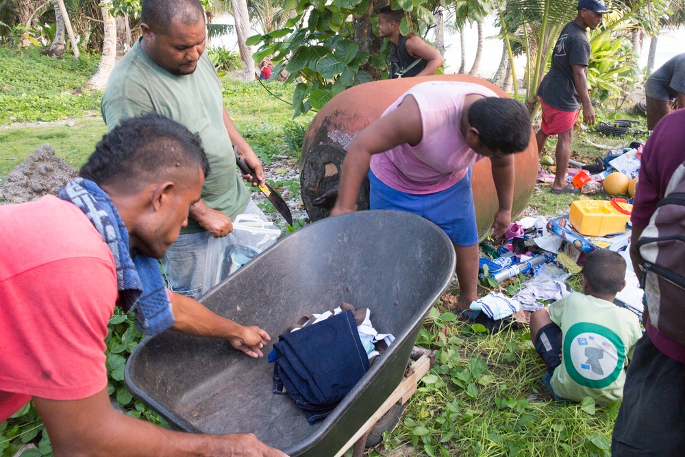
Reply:
[[579, 0], [578, 14], [564, 26], [554, 45], [549, 73], [538, 88], [543, 121], [535, 134], [538, 151], [542, 152], [547, 137], [558, 135], [556, 151], [556, 175], [552, 193], [578, 193], [579, 190], [566, 183], [566, 171], [571, 157], [573, 124], [578, 108], [583, 107], [583, 120], [588, 125], [595, 123], [595, 109], [590, 103], [588, 92], [588, 62], [590, 42], [586, 29], [597, 28], [602, 14], [611, 10], [601, 0]]

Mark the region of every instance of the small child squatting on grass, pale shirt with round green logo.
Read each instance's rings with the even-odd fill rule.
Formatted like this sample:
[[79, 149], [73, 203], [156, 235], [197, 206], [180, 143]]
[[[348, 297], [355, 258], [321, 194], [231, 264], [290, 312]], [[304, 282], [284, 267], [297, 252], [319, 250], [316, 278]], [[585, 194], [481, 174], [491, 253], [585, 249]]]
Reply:
[[607, 404], [623, 397], [624, 368], [642, 336], [636, 314], [613, 304], [624, 278], [621, 254], [599, 249], [585, 261], [583, 293], [531, 315], [530, 337], [556, 398], [581, 402], [589, 396]]

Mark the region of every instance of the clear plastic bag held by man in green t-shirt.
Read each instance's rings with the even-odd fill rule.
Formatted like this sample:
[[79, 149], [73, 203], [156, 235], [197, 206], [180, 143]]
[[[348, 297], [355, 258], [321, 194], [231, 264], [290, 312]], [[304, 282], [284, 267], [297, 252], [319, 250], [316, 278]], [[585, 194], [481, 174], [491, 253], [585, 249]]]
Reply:
[[207, 242], [203, 291], [209, 291], [273, 245], [280, 234], [273, 222], [262, 221], [256, 214], [240, 214], [233, 223], [233, 232]]

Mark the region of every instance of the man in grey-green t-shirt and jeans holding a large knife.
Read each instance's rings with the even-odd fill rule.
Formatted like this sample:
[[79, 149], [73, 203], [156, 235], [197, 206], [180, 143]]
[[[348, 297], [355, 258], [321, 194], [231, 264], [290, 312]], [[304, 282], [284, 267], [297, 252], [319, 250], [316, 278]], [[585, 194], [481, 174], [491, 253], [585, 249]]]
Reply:
[[207, 242], [233, 231], [241, 213], [264, 214], [236, 172], [238, 154], [264, 184], [262, 164], [223, 107], [221, 83], [204, 53], [206, 24], [197, 0], [144, 0], [142, 37], [114, 66], [101, 112], [110, 131], [124, 119], [157, 112], [198, 134], [212, 167], [188, 226], [162, 258], [169, 288], [192, 298], [203, 292]]

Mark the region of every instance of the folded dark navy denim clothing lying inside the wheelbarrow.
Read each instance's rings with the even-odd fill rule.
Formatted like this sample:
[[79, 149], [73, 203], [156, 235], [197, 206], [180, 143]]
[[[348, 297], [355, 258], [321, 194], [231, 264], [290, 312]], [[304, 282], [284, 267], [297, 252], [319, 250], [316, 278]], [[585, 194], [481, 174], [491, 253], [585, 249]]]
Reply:
[[273, 347], [273, 392], [285, 388], [311, 424], [325, 419], [369, 371], [351, 311], [279, 335]]

